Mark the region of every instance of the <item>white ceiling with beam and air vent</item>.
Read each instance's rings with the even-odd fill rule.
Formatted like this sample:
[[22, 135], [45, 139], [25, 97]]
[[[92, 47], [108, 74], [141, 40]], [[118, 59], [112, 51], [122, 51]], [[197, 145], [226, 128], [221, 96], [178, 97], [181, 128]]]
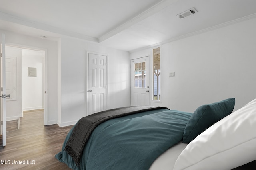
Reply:
[[[194, 7], [198, 13], [176, 15]], [[0, 29], [134, 51], [256, 17], [256, 0], [0, 0]]]

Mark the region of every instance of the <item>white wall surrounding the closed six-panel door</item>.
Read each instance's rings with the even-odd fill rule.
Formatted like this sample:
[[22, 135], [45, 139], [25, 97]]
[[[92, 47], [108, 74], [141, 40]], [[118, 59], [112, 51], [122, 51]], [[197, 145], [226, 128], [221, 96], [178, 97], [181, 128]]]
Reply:
[[107, 109], [130, 106], [130, 53], [68, 37], [62, 37], [59, 46], [58, 125], [72, 125], [86, 115], [86, 51], [108, 55]]

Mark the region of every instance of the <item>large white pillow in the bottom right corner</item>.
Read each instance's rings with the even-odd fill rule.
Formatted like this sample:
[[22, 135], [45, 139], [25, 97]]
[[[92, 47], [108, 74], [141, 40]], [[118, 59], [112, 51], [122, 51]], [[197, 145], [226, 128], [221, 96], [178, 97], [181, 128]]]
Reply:
[[198, 135], [174, 170], [230, 170], [256, 159], [256, 99]]

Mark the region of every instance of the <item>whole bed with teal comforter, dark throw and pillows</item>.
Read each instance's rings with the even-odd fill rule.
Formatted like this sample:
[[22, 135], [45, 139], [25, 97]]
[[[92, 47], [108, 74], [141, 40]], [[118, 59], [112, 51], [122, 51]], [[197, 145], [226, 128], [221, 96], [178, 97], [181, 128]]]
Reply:
[[96, 118], [78, 121], [55, 157], [76, 170], [255, 166], [256, 99], [232, 113], [234, 105], [235, 99], [229, 98], [202, 105], [194, 113], [153, 106], [95, 113]]

